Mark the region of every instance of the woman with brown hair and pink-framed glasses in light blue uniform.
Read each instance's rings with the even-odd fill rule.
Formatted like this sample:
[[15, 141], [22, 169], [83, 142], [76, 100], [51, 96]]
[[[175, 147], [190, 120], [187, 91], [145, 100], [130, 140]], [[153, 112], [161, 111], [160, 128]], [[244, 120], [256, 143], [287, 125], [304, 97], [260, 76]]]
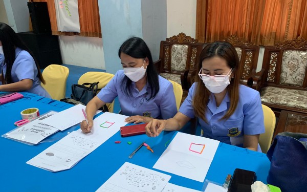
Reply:
[[149, 137], [163, 130], [180, 130], [197, 117], [203, 136], [261, 152], [259, 134], [265, 132], [259, 92], [239, 84], [241, 66], [228, 42], [206, 46], [193, 83], [179, 112], [167, 120], [152, 120], [146, 126]]

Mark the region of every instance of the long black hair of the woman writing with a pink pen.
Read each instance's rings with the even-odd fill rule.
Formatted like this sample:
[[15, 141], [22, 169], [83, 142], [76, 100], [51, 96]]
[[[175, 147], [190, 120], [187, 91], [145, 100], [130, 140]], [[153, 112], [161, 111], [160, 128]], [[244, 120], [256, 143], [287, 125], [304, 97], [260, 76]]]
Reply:
[[[118, 50], [118, 56], [120, 58], [120, 54], [124, 53], [129, 55], [130, 57], [134, 58], [148, 58], [148, 66], [146, 68], [146, 74], [147, 74], [147, 81], [149, 83], [149, 89], [150, 89], [150, 98], [153, 98], [157, 95], [157, 93], [160, 90], [159, 86], [159, 77], [158, 77], [158, 72], [153, 66], [153, 61], [151, 57], [151, 53], [149, 48], [147, 47], [145, 41], [141, 39], [140, 37], [131, 37], [127, 39], [119, 48]], [[123, 79], [121, 89], [122, 91], [133, 97], [132, 95], [132, 90], [133, 87], [131, 86], [132, 81], [125, 76]], [[128, 88], [128, 89], [127, 89]], [[147, 91], [147, 90], [146, 90]]]

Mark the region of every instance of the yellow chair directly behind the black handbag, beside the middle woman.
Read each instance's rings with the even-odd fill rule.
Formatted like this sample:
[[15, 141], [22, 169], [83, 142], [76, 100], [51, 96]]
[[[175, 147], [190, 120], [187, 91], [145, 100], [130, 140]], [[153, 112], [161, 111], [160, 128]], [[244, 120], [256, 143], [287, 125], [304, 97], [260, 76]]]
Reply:
[[[106, 84], [114, 77], [111, 73], [105, 73], [105, 72], [87, 72], [81, 75], [81, 77], [78, 80], [78, 84], [83, 84], [85, 82], [98, 83], [98, 89], [102, 89], [106, 86]], [[107, 109], [109, 112], [113, 113], [114, 109], [114, 101], [112, 103], [106, 103]]]

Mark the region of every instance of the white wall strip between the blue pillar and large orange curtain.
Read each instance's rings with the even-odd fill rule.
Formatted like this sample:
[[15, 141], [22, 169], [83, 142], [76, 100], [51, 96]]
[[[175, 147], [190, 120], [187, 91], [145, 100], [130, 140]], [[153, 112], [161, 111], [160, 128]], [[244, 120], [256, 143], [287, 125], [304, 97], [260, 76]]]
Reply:
[[195, 38], [196, 0], [167, 0], [167, 37], [183, 32]]

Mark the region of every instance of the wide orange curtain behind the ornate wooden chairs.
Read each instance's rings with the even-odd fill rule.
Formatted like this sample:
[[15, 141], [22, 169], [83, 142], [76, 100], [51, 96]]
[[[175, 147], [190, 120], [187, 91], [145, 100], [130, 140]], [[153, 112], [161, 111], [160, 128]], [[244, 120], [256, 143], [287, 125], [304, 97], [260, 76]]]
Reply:
[[198, 0], [196, 39], [213, 42], [236, 34], [254, 45], [307, 37], [307, 0]]

